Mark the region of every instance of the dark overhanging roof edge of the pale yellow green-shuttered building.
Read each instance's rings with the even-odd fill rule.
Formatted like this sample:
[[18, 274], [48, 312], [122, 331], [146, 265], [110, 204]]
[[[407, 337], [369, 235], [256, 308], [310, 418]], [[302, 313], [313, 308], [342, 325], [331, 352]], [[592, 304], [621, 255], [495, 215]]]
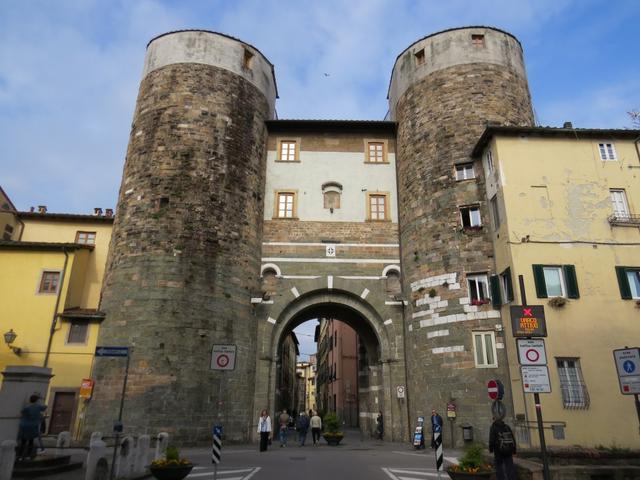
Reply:
[[539, 137], [568, 137], [575, 140], [581, 138], [620, 138], [628, 140], [640, 139], [640, 130], [615, 128], [565, 128], [565, 127], [516, 127], [490, 125], [485, 128], [480, 139], [473, 147], [472, 157], [482, 155], [484, 147], [495, 135], [521, 136], [531, 135]]

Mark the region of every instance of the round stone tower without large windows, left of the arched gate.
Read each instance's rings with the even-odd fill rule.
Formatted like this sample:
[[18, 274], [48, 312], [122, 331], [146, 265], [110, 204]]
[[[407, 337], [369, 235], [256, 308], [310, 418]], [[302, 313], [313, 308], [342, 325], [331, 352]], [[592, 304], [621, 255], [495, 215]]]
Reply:
[[[276, 97], [272, 64], [235, 38], [178, 31], [147, 47], [98, 340], [133, 349], [125, 432], [186, 443], [208, 441], [214, 423], [230, 440], [253, 432], [250, 298], [260, 291], [265, 120]], [[214, 345], [235, 345], [233, 370], [212, 369]], [[86, 435], [112, 431], [124, 367], [95, 359]]]

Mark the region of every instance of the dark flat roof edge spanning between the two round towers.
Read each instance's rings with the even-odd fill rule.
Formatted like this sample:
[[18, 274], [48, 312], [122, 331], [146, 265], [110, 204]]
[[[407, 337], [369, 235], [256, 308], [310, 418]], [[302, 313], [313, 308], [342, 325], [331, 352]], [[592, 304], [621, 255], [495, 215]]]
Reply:
[[386, 120], [267, 120], [269, 133], [275, 132], [363, 132], [395, 135], [396, 122]]

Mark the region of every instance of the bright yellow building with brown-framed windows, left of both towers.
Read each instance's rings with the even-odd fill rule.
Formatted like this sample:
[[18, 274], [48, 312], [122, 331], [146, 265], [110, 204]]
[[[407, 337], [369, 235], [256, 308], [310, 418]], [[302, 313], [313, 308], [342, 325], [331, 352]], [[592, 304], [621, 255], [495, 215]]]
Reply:
[[[0, 206], [5, 205], [13, 207], [8, 201]], [[50, 214], [46, 207], [0, 212], [0, 227], [11, 232], [0, 241], [0, 333], [15, 334], [11, 345], [0, 348], [0, 369], [52, 369], [46, 399], [50, 434], [66, 430], [76, 436], [80, 428], [80, 386], [90, 378], [104, 318], [98, 305], [113, 224], [107, 213]]]

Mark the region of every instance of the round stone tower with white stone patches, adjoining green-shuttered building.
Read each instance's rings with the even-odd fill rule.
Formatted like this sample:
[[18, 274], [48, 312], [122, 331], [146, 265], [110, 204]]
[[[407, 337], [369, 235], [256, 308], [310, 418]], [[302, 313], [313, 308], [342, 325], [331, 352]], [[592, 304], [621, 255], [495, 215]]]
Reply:
[[[475, 178], [456, 180], [456, 165], [489, 123], [533, 125], [527, 77], [518, 40], [501, 30], [467, 27], [418, 40], [396, 59], [389, 109], [398, 122], [397, 174], [407, 366], [412, 418], [457, 406], [455, 436], [470, 424], [486, 439], [491, 424], [489, 378], [508, 385], [501, 345], [500, 308], [472, 305], [472, 288], [496, 272], [482, 162]], [[467, 207], [482, 227], [464, 228]], [[476, 215], [475, 212], [473, 215]], [[475, 222], [474, 222], [475, 223]], [[474, 276], [472, 276], [474, 275]], [[477, 275], [477, 276], [475, 276]], [[496, 328], [498, 325], [498, 328]], [[493, 332], [496, 368], [477, 368], [473, 332]], [[509, 393], [505, 400], [510, 404]], [[509, 411], [510, 417], [513, 412]], [[450, 443], [450, 435], [444, 435]]]

